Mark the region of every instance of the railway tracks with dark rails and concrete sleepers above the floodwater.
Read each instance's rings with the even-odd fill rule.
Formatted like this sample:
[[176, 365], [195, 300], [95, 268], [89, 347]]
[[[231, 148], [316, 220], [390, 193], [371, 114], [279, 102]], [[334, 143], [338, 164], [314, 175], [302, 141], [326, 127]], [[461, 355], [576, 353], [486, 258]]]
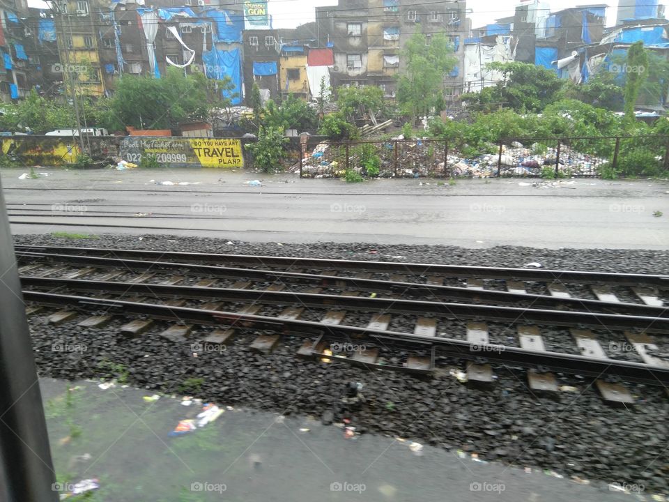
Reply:
[[52, 324], [129, 317], [119, 335], [139, 337], [168, 321], [160, 335], [194, 353], [240, 332], [269, 353], [297, 335], [298, 356], [327, 363], [433, 374], [456, 361], [463, 380], [482, 385], [495, 365], [523, 367], [544, 392], [559, 390], [556, 374], [578, 374], [614, 402], [634, 402], [626, 381], [669, 383], [667, 275], [15, 249], [29, 313], [57, 310], [47, 311]]

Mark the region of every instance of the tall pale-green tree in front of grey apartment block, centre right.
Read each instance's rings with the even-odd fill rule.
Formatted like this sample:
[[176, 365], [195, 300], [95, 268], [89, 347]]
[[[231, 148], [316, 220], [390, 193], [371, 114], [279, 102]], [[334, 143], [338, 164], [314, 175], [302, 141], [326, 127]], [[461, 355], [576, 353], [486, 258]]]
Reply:
[[397, 100], [403, 112], [413, 117], [427, 115], [444, 79], [457, 63], [453, 48], [442, 33], [434, 35], [428, 45], [422, 33], [414, 33], [406, 43], [401, 58], [404, 71], [398, 77]]

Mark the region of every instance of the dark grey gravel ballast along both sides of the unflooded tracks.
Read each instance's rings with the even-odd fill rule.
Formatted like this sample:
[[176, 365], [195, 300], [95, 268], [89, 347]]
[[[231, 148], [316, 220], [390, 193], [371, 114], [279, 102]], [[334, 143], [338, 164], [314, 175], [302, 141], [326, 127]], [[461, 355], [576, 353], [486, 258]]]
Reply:
[[[94, 240], [17, 236], [15, 243], [477, 266], [523, 267], [539, 262], [543, 268], [654, 274], [667, 273], [669, 263], [669, 252], [646, 250], [279, 245], [111, 235]], [[445, 367], [463, 369], [462, 361], [440, 361], [443, 372], [431, 380], [420, 379], [342, 363], [300, 360], [295, 358], [302, 343], [299, 337], [284, 337], [272, 354], [259, 355], [249, 349], [249, 342], [258, 333], [240, 333], [225, 351], [196, 358], [189, 343], [159, 336], [167, 323], [128, 339], [118, 335], [127, 320], [115, 319], [102, 329], [78, 328], [78, 320], [55, 327], [46, 323], [45, 315], [30, 318], [41, 375], [73, 380], [109, 378], [118, 377], [122, 367], [133, 386], [171, 393], [190, 391], [222, 404], [284, 414], [329, 417], [332, 413], [335, 422], [350, 418], [357, 432], [407, 437], [468, 455], [475, 452], [480, 459], [536, 466], [585, 480], [643, 485], [648, 492], [668, 492], [669, 400], [660, 387], [627, 384], [638, 402], [619, 408], [601, 400], [592, 379], [558, 375], [560, 386], [567, 387], [564, 392], [532, 395], [525, 371], [499, 366], [494, 367], [497, 379], [493, 386], [477, 388], [461, 383]], [[194, 337], [206, 336], [210, 330], [196, 327]], [[573, 339], [567, 330], [562, 331], [555, 329], [548, 337], [547, 349], [574, 351]], [[503, 342], [506, 333], [501, 325], [494, 325], [491, 336], [495, 342]], [[79, 344], [86, 351], [54, 351], [54, 344]], [[184, 388], [185, 382], [197, 379], [202, 379], [197, 388]], [[360, 408], [350, 409], [341, 402], [349, 381], [364, 384], [366, 402]]]

